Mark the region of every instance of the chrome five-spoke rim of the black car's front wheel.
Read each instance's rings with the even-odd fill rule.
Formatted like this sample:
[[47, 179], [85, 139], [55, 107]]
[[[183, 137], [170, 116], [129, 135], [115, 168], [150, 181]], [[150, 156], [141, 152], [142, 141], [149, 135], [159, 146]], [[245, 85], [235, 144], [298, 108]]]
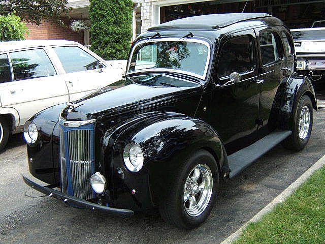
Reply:
[[184, 185], [184, 208], [189, 216], [202, 214], [210, 202], [213, 189], [212, 173], [208, 165], [199, 164], [194, 167]]

